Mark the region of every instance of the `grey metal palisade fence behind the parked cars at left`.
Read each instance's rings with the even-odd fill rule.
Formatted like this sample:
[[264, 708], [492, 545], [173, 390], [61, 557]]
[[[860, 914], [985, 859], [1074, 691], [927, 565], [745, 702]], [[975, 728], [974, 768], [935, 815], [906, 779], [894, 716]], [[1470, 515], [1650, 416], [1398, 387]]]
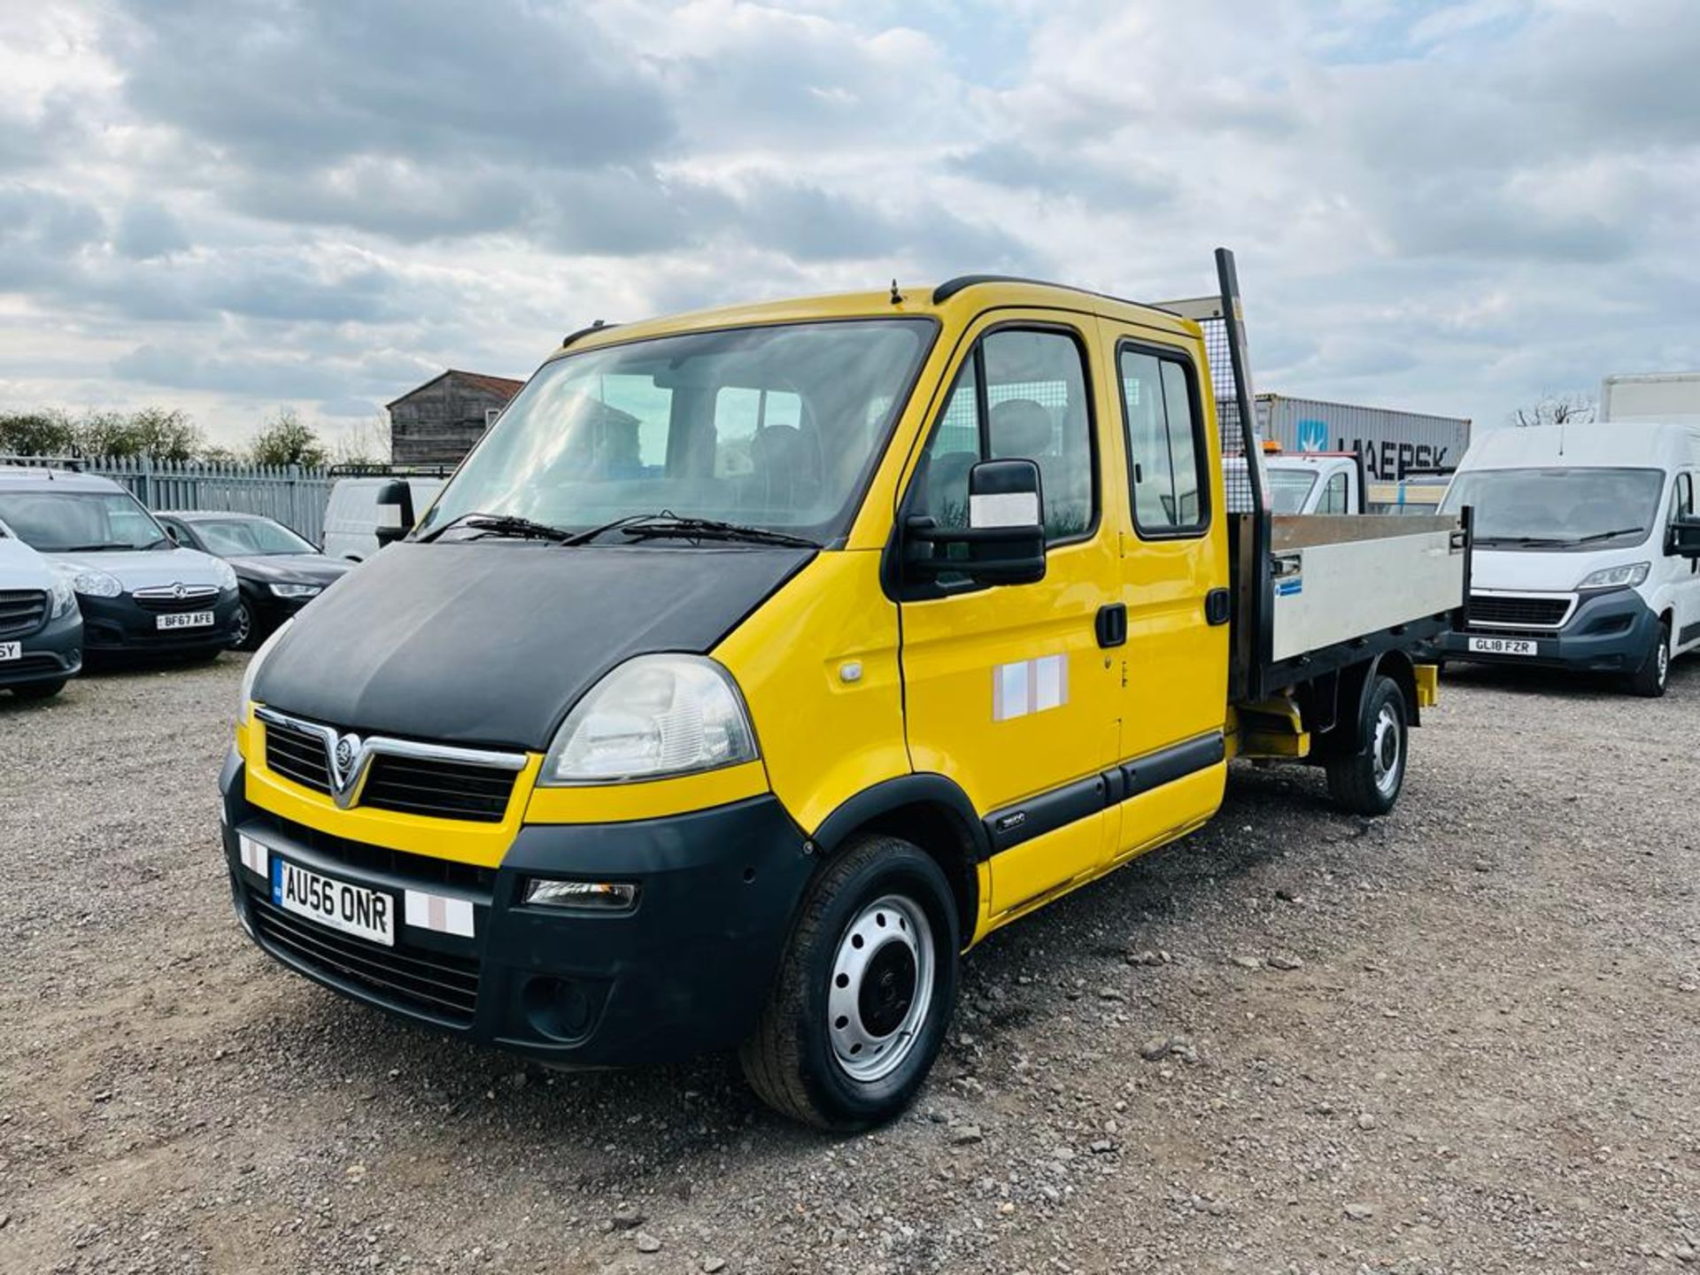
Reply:
[[0, 456], [0, 466], [5, 464], [80, 469], [110, 478], [128, 486], [151, 510], [264, 513], [313, 544], [325, 537], [325, 507], [337, 481], [325, 469], [296, 464], [155, 461], [148, 456]]

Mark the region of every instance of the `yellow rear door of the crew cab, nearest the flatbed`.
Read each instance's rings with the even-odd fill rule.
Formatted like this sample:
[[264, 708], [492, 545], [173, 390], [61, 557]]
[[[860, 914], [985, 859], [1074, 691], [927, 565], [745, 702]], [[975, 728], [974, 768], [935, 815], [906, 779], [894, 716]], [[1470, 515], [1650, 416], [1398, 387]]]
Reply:
[[1200, 347], [1168, 333], [1105, 325], [1125, 473], [1129, 532], [1120, 600], [1122, 702], [1117, 855], [1130, 855], [1216, 813], [1226, 782], [1227, 529], [1216, 418]]

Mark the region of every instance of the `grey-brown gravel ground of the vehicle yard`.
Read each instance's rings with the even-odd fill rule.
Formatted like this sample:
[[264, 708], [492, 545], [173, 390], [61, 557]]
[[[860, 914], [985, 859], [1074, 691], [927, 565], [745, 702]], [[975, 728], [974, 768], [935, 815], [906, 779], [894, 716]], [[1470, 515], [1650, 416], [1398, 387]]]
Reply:
[[0, 1270], [1700, 1272], [1700, 661], [1448, 673], [1404, 801], [1236, 767], [991, 938], [894, 1125], [549, 1076], [238, 932], [241, 661], [0, 695]]

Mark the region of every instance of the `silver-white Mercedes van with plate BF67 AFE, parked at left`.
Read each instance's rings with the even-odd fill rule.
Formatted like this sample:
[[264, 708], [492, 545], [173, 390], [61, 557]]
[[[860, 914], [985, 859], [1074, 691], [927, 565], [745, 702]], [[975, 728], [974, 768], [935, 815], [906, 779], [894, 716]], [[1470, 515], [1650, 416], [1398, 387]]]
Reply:
[[236, 573], [180, 547], [109, 478], [0, 469], [0, 522], [75, 590], [83, 649], [211, 658], [231, 644]]

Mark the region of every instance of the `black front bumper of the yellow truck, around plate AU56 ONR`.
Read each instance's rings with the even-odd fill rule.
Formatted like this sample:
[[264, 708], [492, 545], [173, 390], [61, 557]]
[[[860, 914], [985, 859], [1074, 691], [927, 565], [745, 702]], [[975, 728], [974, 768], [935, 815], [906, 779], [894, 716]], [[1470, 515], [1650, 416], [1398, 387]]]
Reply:
[[[224, 858], [236, 913], [272, 957], [345, 996], [554, 1066], [634, 1066], [729, 1049], [755, 1027], [814, 860], [772, 796], [660, 819], [529, 824], [502, 867], [381, 850], [279, 819], [224, 767]], [[272, 855], [379, 889], [469, 904], [473, 935], [398, 923], [393, 949], [280, 911], [243, 862]], [[626, 881], [622, 913], [522, 903], [529, 877]], [[406, 892], [413, 891], [410, 903]]]

